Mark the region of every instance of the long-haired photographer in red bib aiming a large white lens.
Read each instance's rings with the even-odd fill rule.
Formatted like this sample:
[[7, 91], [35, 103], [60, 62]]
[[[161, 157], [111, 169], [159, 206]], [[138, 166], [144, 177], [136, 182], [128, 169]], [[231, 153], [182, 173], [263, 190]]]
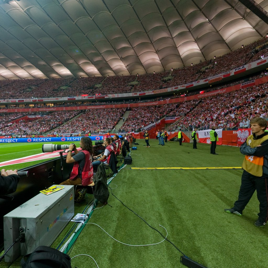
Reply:
[[[61, 185], [79, 185], [93, 186], [93, 167], [92, 167], [92, 155], [93, 146], [89, 137], [82, 137], [80, 140], [80, 147], [82, 151], [78, 152], [75, 144], [70, 144], [68, 154], [66, 157], [66, 163], [74, 163], [70, 178], [63, 181]], [[75, 155], [72, 157], [72, 151]], [[80, 202], [85, 194], [86, 189], [77, 186], [75, 192], [75, 201]]]

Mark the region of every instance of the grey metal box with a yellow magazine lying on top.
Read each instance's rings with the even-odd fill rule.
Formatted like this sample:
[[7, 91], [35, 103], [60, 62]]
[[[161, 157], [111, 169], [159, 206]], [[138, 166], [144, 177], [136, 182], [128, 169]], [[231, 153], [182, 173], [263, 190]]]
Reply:
[[29, 254], [41, 245], [50, 246], [74, 216], [74, 186], [50, 195], [39, 193], [4, 216], [5, 251], [25, 233], [25, 242], [16, 243], [5, 255], [6, 262]]

